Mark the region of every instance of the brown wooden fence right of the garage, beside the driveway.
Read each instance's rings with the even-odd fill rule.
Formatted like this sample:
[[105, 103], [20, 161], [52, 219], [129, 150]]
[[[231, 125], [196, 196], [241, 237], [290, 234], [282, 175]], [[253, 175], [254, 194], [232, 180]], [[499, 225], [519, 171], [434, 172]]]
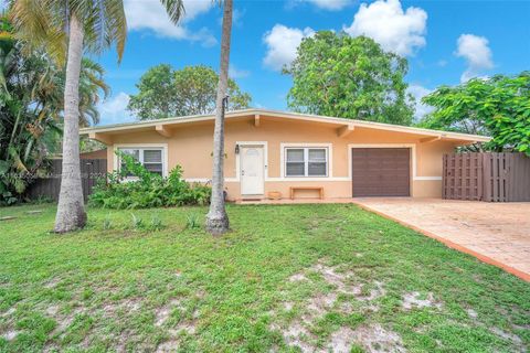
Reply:
[[530, 158], [523, 153], [444, 156], [443, 199], [530, 201]]

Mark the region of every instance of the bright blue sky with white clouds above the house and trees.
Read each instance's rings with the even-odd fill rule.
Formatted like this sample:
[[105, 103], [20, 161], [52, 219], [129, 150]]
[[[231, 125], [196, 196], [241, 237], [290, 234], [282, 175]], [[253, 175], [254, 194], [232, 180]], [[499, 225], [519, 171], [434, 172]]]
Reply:
[[[221, 9], [211, 0], [184, 3], [187, 17], [173, 26], [158, 0], [125, 0], [124, 58], [118, 65], [113, 51], [99, 57], [113, 90], [99, 106], [100, 125], [135, 119], [125, 109], [128, 95], [153, 65], [218, 69]], [[365, 34], [407, 57], [406, 81], [416, 97], [443, 84], [530, 69], [530, 0], [235, 0], [234, 8], [231, 76], [252, 95], [254, 107], [286, 109], [292, 82], [279, 68], [303, 38], [319, 30]], [[428, 107], [417, 107], [417, 116], [425, 111]]]

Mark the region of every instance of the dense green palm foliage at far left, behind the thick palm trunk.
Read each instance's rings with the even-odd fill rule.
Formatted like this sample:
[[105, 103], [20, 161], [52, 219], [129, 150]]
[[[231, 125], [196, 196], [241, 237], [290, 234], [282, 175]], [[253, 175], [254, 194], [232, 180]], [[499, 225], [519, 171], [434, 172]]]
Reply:
[[[45, 171], [60, 147], [64, 69], [44, 53], [22, 55], [9, 20], [0, 19], [0, 203], [17, 202], [32, 178]], [[99, 93], [108, 92], [103, 68], [84, 58], [80, 124], [98, 119]]]

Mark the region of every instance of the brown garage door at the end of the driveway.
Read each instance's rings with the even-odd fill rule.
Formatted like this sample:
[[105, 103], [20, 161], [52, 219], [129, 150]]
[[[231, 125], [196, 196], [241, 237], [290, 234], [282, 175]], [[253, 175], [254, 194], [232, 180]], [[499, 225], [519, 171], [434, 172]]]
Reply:
[[410, 154], [407, 148], [353, 148], [353, 197], [410, 196]]

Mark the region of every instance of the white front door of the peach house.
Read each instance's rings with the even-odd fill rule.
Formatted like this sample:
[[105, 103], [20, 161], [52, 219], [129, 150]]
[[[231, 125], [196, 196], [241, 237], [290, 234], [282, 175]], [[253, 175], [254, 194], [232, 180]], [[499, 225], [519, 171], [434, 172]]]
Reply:
[[241, 148], [241, 194], [263, 194], [264, 162], [263, 147], [245, 146]]

